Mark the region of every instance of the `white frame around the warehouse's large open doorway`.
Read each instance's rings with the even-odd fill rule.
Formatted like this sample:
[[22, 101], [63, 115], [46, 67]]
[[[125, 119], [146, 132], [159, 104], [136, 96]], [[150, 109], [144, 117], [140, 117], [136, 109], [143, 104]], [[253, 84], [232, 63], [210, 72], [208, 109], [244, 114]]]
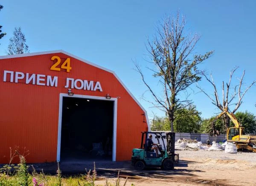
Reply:
[[79, 95], [79, 94], [74, 94], [73, 96], [70, 96], [70, 95], [64, 94], [64, 93], [60, 93], [60, 102], [59, 102], [57, 161], [60, 161], [60, 156], [61, 156], [61, 123], [62, 123], [63, 97], [78, 97], [78, 98], [84, 98], [84, 99], [105, 100], [105, 101], [113, 101], [114, 102], [112, 161], [116, 161], [117, 98], [111, 97], [111, 99], [107, 99], [106, 97], [88, 96], [88, 95]]

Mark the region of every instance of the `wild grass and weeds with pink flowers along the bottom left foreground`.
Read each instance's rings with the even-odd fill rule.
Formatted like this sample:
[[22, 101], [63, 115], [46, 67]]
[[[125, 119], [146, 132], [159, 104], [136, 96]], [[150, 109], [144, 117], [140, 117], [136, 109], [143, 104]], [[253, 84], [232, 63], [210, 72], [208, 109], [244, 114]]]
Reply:
[[[38, 173], [33, 165], [31, 166], [33, 171], [29, 173], [29, 166], [26, 165], [25, 156], [20, 155], [17, 151], [12, 153], [12, 149], [10, 150], [10, 162], [0, 168], [0, 186], [125, 186], [128, 179], [126, 177], [125, 183], [121, 185], [118, 172], [115, 183], [111, 183], [105, 178], [103, 185], [96, 184], [97, 172], [95, 162], [92, 171], [86, 171], [84, 175], [75, 177], [63, 177], [58, 162], [56, 175], [45, 175], [43, 169]], [[12, 164], [12, 160], [17, 156], [20, 163], [17, 165]], [[134, 186], [133, 183], [131, 185]]]

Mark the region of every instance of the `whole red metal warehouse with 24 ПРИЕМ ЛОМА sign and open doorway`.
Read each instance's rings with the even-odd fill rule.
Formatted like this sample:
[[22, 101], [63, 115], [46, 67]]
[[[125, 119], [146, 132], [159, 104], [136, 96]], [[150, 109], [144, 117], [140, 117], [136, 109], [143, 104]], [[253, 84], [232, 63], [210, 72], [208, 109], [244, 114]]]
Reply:
[[0, 57], [0, 163], [129, 160], [149, 130], [145, 109], [116, 74], [67, 52]]

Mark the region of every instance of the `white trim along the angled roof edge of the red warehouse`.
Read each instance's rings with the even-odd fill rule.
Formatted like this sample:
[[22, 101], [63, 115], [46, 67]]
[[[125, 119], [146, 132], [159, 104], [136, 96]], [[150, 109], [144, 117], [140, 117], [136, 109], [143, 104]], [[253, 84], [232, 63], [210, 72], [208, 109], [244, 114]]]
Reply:
[[77, 60], [80, 60], [80, 61], [82, 61], [84, 63], [87, 63], [87, 64], [89, 64], [91, 66], [95, 66], [95, 67], [97, 67], [99, 69], [102, 69], [102, 70], [105, 70], [107, 72], [112, 73], [116, 77], [116, 79], [119, 81], [119, 83], [121, 83], [122, 86], [125, 88], [125, 90], [130, 94], [130, 96], [136, 101], [136, 103], [140, 106], [140, 108], [145, 112], [145, 117], [146, 117], [147, 124], [148, 124], [148, 131], [151, 131], [149, 120], [148, 120], [147, 111], [143, 108], [143, 106], [140, 104], [140, 102], [134, 97], [134, 95], [129, 91], [129, 89], [125, 86], [125, 84], [122, 82], [122, 80], [120, 80], [120, 78], [112, 70], [109, 70], [109, 69], [106, 69], [106, 68], [104, 68], [102, 66], [96, 65], [95, 63], [91, 63], [90, 61], [84, 60], [81, 57], [77, 57], [77, 56], [75, 56], [73, 54], [70, 54], [68, 52], [65, 52], [63, 50], [52, 50], [52, 51], [45, 51], [45, 52], [34, 52], [34, 53], [26, 53], [26, 54], [6, 55], [6, 56], [0, 56], [0, 60], [2, 60], [2, 59], [10, 59], [10, 58], [15, 58], [15, 57], [28, 57], [28, 56], [43, 55], [43, 54], [54, 54], [54, 53], [66, 54], [66, 55], [68, 55], [70, 57], [76, 58]]

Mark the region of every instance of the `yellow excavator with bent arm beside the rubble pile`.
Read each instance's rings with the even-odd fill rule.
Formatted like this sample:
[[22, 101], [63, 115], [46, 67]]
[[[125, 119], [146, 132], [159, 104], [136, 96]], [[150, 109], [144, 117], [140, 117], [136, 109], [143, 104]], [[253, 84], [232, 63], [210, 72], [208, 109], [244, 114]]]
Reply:
[[250, 152], [256, 152], [256, 134], [244, 134], [244, 127], [241, 127], [236, 116], [233, 113], [228, 112], [227, 108], [212, 121], [212, 131], [209, 133], [210, 136], [218, 136], [220, 134], [218, 130], [215, 129], [215, 122], [223, 114], [227, 114], [235, 124], [234, 127], [227, 129], [227, 141], [236, 143], [237, 149], [247, 149]]

